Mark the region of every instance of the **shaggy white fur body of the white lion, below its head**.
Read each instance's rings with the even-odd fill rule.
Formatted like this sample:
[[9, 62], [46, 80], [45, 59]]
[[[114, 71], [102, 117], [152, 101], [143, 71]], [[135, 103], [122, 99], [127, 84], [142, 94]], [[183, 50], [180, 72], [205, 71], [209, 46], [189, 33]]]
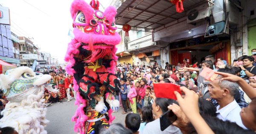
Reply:
[[[6, 108], [1, 112], [3, 118], [0, 119], [0, 127], [11, 126], [19, 134], [47, 134], [44, 126], [49, 123], [46, 120], [47, 108], [41, 102], [41, 96], [44, 94], [40, 91], [38, 94], [31, 94], [27, 100], [21, 103], [7, 103]], [[30, 125], [35, 127], [31, 128]]]

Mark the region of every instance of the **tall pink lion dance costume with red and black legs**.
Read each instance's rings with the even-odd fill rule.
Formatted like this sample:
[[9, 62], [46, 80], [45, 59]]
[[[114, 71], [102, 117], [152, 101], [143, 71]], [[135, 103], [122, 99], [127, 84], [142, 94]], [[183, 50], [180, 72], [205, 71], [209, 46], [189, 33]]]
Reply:
[[98, 134], [108, 128], [118, 110], [119, 101], [113, 94], [119, 93], [120, 83], [113, 74], [117, 57], [116, 46], [120, 35], [115, 32], [116, 9], [109, 6], [99, 11], [98, 0], [90, 5], [83, 0], [74, 0], [71, 5], [74, 39], [69, 43], [65, 61], [66, 70], [74, 76], [77, 92], [76, 122], [74, 130], [80, 134]]

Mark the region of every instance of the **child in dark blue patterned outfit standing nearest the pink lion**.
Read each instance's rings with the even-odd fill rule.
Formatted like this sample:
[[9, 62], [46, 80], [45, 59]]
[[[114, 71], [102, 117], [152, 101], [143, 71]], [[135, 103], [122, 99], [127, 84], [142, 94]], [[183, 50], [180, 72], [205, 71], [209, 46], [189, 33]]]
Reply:
[[126, 79], [121, 79], [121, 89], [120, 89], [120, 96], [122, 100], [122, 105], [124, 108], [124, 111], [122, 111], [122, 114], [127, 114], [127, 106], [126, 106], [126, 99], [127, 99], [127, 86], [125, 84]]

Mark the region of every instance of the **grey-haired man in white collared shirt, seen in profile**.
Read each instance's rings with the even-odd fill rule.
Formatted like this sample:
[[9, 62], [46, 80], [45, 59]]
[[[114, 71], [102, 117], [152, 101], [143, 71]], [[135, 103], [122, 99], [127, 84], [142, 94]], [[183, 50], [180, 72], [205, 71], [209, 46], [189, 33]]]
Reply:
[[247, 129], [240, 117], [241, 108], [234, 99], [236, 91], [239, 90], [237, 83], [232, 83], [227, 80], [214, 80], [209, 83], [208, 91], [210, 97], [217, 100], [217, 118], [223, 121], [234, 122], [240, 127]]

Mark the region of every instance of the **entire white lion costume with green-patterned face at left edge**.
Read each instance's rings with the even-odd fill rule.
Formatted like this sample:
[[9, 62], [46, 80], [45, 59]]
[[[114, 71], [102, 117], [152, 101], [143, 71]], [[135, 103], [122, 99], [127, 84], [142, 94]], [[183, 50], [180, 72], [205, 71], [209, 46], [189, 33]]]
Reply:
[[9, 100], [1, 112], [0, 127], [10, 126], [19, 134], [47, 134], [44, 127], [47, 108], [44, 108], [44, 88], [54, 91], [50, 85], [44, 85], [51, 79], [49, 74], [35, 74], [29, 67], [18, 67], [0, 74], [0, 89]]

